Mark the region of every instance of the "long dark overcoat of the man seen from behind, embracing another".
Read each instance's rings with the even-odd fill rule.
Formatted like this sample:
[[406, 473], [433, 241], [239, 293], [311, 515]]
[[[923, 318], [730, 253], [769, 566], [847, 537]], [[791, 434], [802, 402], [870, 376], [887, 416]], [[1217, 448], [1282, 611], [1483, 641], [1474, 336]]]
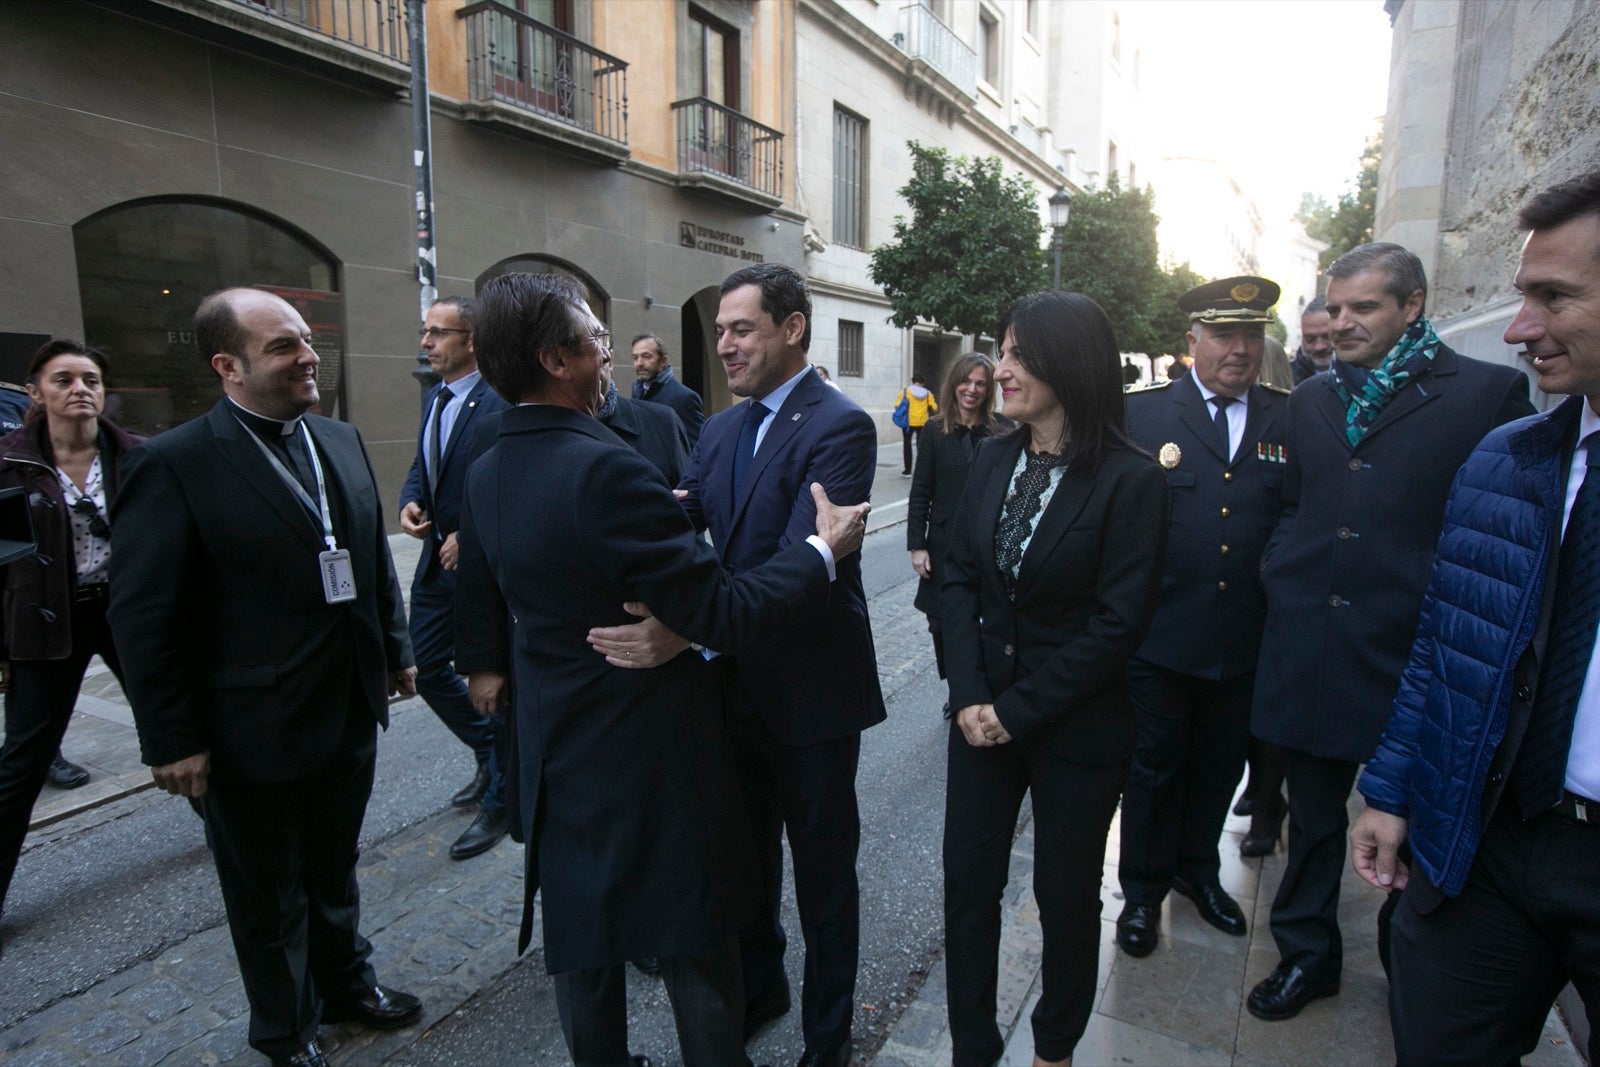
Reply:
[[[522, 947], [542, 893], [552, 974], [707, 952], [754, 910], [718, 672], [693, 651], [622, 670], [586, 638], [635, 621], [622, 603], [640, 600], [675, 633], [736, 651], [826, 600], [822, 557], [798, 542], [730, 577], [656, 467], [547, 405], [501, 416], [467, 477], [459, 544], [458, 600], [485, 605], [491, 627], [506, 609], [512, 622]], [[462, 632], [461, 667], [496, 669], [502, 640]]]

